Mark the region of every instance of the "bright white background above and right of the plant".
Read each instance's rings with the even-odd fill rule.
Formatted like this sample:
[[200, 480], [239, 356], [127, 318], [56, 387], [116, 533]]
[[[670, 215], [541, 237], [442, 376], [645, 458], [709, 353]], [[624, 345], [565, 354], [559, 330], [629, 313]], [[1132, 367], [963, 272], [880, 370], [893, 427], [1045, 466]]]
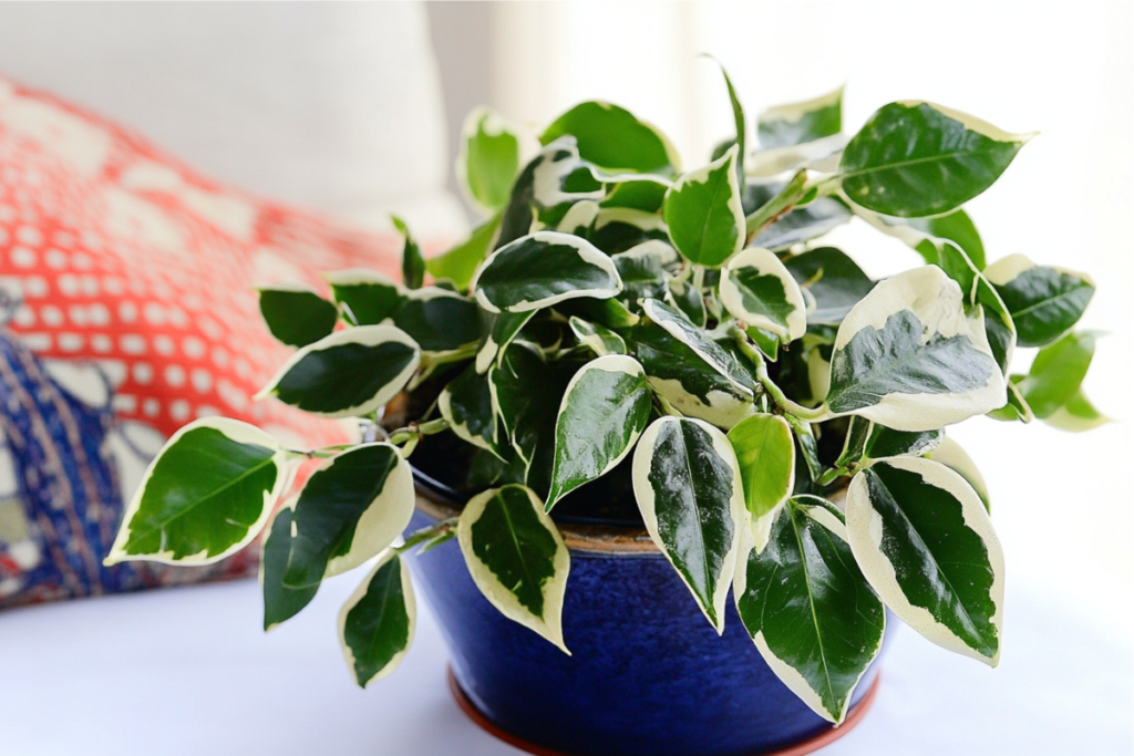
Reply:
[[[433, 3], [435, 42], [448, 5], [464, 3]], [[1009, 630], [1017, 581], [1131, 632], [1129, 2], [515, 2], [482, 6], [480, 17], [489, 44], [483, 35], [440, 41], [447, 82], [447, 60], [460, 61], [463, 49], [476, 57], [466, 60], [489, 54], [482, 99], [511, 118], [534, 129], [577, 101], [610, 100], [662, 127], [686, 168], [703, 162], [731, 129], [720, 75], [699, 52], [728, 67], [750, 116], [845, 83], [852, 133], [874, 109], [902, 99], [1040, 131], [971, 203], [971, 214], [990, 260], [1024, 253], [1095, 278], [1099, 291], [1083, 325], [1110, 335], [1099, 342], [1086, 390], [1119, 422], [1070, 435], [1040, 423], [978, 418], [950, 433], [992, 490], [1009, 569]], [[466, 76], [465, 100], [469, 85], [484, 86]], [[864, 229], [844, 229], [836, 240], [874, 275], [920, 262], [900, 243]], [[1029, 358], [1017, 358], [1017, 371]]]

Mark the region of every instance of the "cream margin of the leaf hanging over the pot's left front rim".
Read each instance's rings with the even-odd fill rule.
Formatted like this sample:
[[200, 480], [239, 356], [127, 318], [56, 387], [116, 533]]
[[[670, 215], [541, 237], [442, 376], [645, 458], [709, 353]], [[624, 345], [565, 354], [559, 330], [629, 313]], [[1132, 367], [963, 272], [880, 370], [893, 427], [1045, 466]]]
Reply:
[[468, 500], [465, 510], [457, 520], [457, 543], [460, 545], [460, 553], [465, 558], [465, 566], [468, 568], [473, 583], [476, 584], [489, 603], [508, 619], [535, 631], [570, 656], [570, 651], [564, 643], [562, 631], [564, 596], [567, 592], [567, 576], [570, 572], [570, 554], [567, 551], [567, 544], [559, 534], [559, 528], [544, 513], [543, 502], [540, 501], [540, 498], [527, 486], [518, 487], [522, 487], [527, 494], [536, 517], [556, 542], [556, 555], [552, 558], [555, 575], [543, 584], [543, 617], [533, 614], [521, 604], [515, 594], [500, 583], [496, 574], [473, 551], [473, 525], [484, 515], [484, 508], [499, 494], [500, 489], [490, 489]]

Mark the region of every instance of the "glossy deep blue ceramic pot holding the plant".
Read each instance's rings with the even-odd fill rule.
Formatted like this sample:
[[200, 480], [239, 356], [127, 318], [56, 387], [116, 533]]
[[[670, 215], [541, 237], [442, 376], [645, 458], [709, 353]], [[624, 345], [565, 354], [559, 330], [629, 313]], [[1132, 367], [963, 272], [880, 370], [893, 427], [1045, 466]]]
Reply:
[[[412, 528], [459, 513], [443, 492], [418, 476]], [[835, 730], [807, 708], [761, 659], [731, 602], [718, 637], [644, 529], [559, 527], [572, 559], [570, 656], [489, 604], [456, 541], [408, 560], [448, 643], [458, 700], [496, 734], [543, 754], [802, 754], [864, 713], [857, 706]], [[853, 706], [877, 674], [875, 662]]]

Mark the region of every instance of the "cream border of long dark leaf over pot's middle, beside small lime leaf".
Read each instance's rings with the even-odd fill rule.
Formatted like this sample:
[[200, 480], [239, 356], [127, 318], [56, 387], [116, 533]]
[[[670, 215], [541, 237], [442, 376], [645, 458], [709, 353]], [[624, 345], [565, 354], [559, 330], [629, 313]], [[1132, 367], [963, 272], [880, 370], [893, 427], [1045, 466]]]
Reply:
[[[658, 435], [661, 433], [662, 426], [668, 423], [693, 423], [697, 427], [705, 431], [712, 440], [713, 451], [716, 451], [717, 456], [725, 460], [733, 472], [733, 494], [729, 498], [729, 517], [733, 520], [733, 543], [729, 546], [729, 550], [725, 553], [720, 574], [717, 576], [717, 589], [712, 595], [712, 609], [713, 613], [717, 615], [716, 620], [713, 620], [709, 610], [701, 603], [701, 600], [693, 591], [693, 587], [689, 586], [688, 580], [685, 579], [682, 571], [677, 569], [676, 564], [674, 564], [674, 558], [669, 553], [669, 545], [662, 541], [661, 533], [658, 527], [657, 496], [654, 495], [653, 486], [650, 484], [650, 470], [653, 467], [653, 452], [658, 443]], [[725, 606], [728, 601], [728, 591], [736, 577], [737, 559], [741, 551], [741, 542], [744, 538], [744, 532], [748, 530], [748, 510], [744, 503], [744, 486], [741, 482], [741, 467], [736, 461], [736, 452], [733, 451], [733, 444], [729, 443], [728, 436], [709, 423], [697, 418], [678, 418], [671, 416], [660, 417], [654, 421], [642, 434], [642, 438], [638, 439], [637, 448], [634, 450], [632, 477], [634, 483], [634, 498], [637, 500], [638, 510], [642, 512], [642, 519], [645, 520], [645, 528], [650, 534], [650, 538], [658, 546], [661, 553], [665, 554], [670, 566], [674, 567], [674, 571], [682, 578], [682, 583], [685, 583], [685, 586], [689, 589], [689, 594], [693, 595], [697, 606], [701, 609], [702, 613], [704, 613], [705, 619], [709, 620], [709, 623], [717, 630], [717, 635], [723, 635]]]

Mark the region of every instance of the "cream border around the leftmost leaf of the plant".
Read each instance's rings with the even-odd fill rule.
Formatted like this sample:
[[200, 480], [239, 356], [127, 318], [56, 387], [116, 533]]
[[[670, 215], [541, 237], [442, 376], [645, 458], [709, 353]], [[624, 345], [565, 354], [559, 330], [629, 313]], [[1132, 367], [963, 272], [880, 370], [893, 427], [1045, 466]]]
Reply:
[[[272, 490], [265, 492], [263, 495], [263, 507], [260, 510], [260, 516], [256, 521], [248, 526], [248, 532], [238, 542], [230, 545], [225, 551], [212, 557], [206, 557], [208, 552], [202, 551], [197, 554], [191, 554], [188, 557], [183, 557], [181, 559], [174, 559], [172, 551], [160, 551], [155, 554], [130, 554], [125, 551], [126, 544], [130, 540], [132, 528], [130, 523], [134, 516], [137, 515], [138, 509], [142, 507], [142, 498], [145, 495], [146, 486], [150, 483], [150, 478], [153, 477], [154, 468], [161, 458], [166, 456], [169, 451], [186, 433], [196, 431], [197, 428], [213, 428], [219, 431], [229, 440], [236, 443], [253, 444], [257, 447], [263, 447], [266, 449], [274, 450], [272, 456], [272, 464], [276, 466], [276, 485]], [[220, 560], [235, 554], [239, 550], [244, 549], [246, 545], [252, 543], [260, 532], [264, 528], [268, 523], [268, 518], [272, 513], [272, 507], [280, 495], [288, 490], [291, 484], [291, 479], [295, 475], [295, 465], [290, 464], [289, 455], [284, 450], [276, 440], [268, 433], [261, 431], [254, 425], [248, 423], [243, 423], [240, 421], [234, 421], [228, 417], [203, 417], [201, 419], [194, 421], [188, 425], [181, 427], [177, 433], [175, 433], [166, 445], [162, 448], [158, 456], [153, 458], [150, 466], [146, 467], [145, 475], [142, 476], [142, 484], [134, 492], [134, 496], [130, 499], [129, 503], [126, 506], [126, 511], [122, 512], [122, 525], [118, 529], [118, 535], [115, 537], [115, 543], [110, 547], [110, 553], [107, 558], [102, 560], [105, 566], [118, 564], [119, 562], [126, 561], [142, 561], [142, 562], [161, 562], [162, 564], [184, 564], [184, 566], [200, 566], [200, 564], [213, 564]]]

